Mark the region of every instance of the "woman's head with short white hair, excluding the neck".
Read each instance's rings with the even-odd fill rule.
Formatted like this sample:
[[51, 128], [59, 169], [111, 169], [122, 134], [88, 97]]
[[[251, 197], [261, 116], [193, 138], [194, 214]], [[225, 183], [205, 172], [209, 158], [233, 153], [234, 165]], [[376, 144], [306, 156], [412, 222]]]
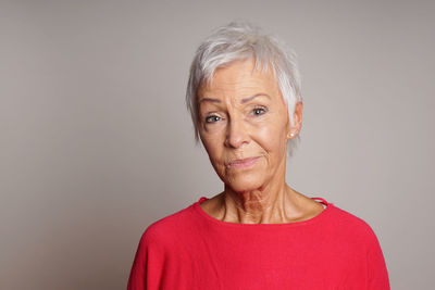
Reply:
[[249, 24], [232, 23], [199, 47], [187, 89], [196, 139], [236, 191], [284, 178], [302, 103], [293, 54]]

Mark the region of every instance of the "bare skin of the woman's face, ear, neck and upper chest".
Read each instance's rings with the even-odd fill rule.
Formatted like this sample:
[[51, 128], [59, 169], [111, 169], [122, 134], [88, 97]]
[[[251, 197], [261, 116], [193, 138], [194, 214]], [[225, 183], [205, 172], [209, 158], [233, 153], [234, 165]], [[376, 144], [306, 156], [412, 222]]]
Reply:
[[[323, 206], [285, 181], [286, 146], [302, 122], [296, 105], [294, 126], [277, 83], [252, 60], [217, 68], [198, 91], [199, 134], [224, 191], [201, 203], [222, 222], [284, 224], [320, 214]], [[254, 157], [252, 164], [234, 163]]]

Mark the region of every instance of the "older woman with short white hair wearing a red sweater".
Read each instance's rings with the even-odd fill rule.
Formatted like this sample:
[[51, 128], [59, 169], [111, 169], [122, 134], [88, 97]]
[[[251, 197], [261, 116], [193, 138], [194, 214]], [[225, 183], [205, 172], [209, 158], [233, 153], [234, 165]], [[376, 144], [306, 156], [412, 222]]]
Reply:
[[129, 290], [389, 289], [370, 226], [286, 184], [302, 102], [294, 55], [275, 37], [247, 23], [214, 30], [187, 104], [224, 189], [147, 228]]

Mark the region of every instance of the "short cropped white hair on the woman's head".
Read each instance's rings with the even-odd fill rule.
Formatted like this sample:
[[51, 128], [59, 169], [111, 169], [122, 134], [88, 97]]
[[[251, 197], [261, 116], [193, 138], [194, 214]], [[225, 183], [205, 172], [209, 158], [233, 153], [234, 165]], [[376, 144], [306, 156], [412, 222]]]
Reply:
[[[281, 93], [288, 106], [290, 126], [296, 103], [302, 101], [300, 75], [296, 54], [275, 36], [265, 34], [260, 27], [247, 22], [232, 22], [217, 27], [198, 47], [190, 66], [186, 104], [191, 114], [195, 140], [199, 141], [198, 89], [203, 83], [212, 81], [216, 68], [235, 61], [253, 60], [256, 70], [271, 68]], [[293, 155], [299, 135], [287, 142], [287, 154]]]

